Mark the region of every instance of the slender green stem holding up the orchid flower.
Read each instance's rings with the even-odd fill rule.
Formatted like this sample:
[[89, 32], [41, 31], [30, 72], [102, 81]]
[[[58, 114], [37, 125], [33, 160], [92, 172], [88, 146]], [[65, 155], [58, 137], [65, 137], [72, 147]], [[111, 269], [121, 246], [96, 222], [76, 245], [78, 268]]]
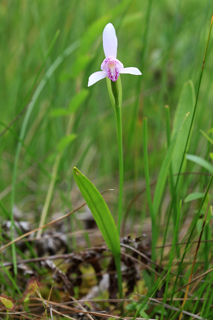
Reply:
[[118, 157], [119, 157], [119, 201], [118, 201], [118, 234], [120, 236], [121, 218], [122, 218], [122, 204], [123, 204], [123, 145], [122, 145], [122, 116], [121, 105], [119, 105], [118, 99], [118, 85], [117, 81], [111, 80], [112, 92], [115, 100], [115, 118], [117, 128], [117, 140], [118, 140]]

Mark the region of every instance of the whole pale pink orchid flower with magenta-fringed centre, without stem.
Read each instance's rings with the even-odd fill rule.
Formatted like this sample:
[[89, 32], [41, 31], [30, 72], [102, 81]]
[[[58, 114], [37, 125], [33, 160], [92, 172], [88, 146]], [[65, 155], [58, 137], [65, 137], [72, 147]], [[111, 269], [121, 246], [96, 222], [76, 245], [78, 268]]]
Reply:
[[120, 73], [130, 73], [131, 75], [141, 75], [138, 68], [123, 68], [121, 61], [116, 59], [118, 41], [115, 29], [112, 23], [108, 23], [103, 31], [103, 47], [106, 59], [101, 64], [101, 70], [93, 73], [89, 77], [88, 87], [97, 81], [108, 77], [112, 81], [116, 81]]

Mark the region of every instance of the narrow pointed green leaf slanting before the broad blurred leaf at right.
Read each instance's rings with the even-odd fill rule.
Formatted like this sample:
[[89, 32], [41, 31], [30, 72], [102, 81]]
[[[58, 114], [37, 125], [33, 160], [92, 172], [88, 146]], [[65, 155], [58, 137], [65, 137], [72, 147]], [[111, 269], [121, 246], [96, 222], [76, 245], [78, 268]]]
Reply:
[[168, 170], [169, 170], [171, 159], [172, 159], [172, 154], [173, 154], [176, 142], [177, 142], [177, 138], [178, 138], [179, 133], [181, 132], [181, 129], [182, 129], [188, 115], [189, 115], [189, 112], [185, 115], [184, 120], [181, 121], [181, 123], [179, 124], [179, 126], [173, 136], [173, 139], [170, 142], [169, 149], [167, 150], [166, 156], [165, 156], [163, 163], [162, 163], [162, 166], [161, 166], [161, 170], [160, 170], [159, 177], [158, 177], [158, 182], [157, 182], [155, 192], [154, 192], [154, 200], [153, 200], [153, 211], [154, 211], [155, 217], [157, 215], [157, 212], [158, 212], [158, 209], [160, 206], [163, 189], [165, 186], [165, 182], [166, 182]]

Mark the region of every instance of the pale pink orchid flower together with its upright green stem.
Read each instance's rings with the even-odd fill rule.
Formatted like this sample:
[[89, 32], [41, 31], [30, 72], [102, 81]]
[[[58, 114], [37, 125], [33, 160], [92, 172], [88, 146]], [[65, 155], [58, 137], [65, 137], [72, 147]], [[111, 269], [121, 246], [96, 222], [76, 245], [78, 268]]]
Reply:
[[[118, 155], [119, 155], [119, 203], [118, 203], [118, 233], [120, 235], [121, 217], [122, 217], [122, 198], [123, 198], [123, 150], [122, 150], [122, 86], [119, 75], [120, 73], [130, 73], [132, 75], [141, 75], [138, 68], [123, 68], [121, 61], [116, 59], [117, 56], [117, 37], [112, 23], [108, 23], [103, 31], [103, 47], [106, 59], [101, 64], [101, 70], [93, 73], [89, 77], [88, 87], [97, 81], [107, 79], [107, 87], [110, 99], [115, 111], [117, 139], [118, 139]], [[110, 84], [111, 83], [111, 84]]]

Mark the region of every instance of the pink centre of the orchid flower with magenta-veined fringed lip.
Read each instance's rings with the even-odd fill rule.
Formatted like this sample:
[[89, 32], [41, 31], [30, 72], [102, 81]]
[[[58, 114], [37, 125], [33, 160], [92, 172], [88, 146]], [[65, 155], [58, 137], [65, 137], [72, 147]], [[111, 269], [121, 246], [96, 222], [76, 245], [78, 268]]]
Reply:
[[123, 69], [121, 61], [114, 56], [107, 57], [101, 64], [101, 70], [105, 71], [107, 77], [112, 81], [116, 81], [120, 75], [120, 71]]

